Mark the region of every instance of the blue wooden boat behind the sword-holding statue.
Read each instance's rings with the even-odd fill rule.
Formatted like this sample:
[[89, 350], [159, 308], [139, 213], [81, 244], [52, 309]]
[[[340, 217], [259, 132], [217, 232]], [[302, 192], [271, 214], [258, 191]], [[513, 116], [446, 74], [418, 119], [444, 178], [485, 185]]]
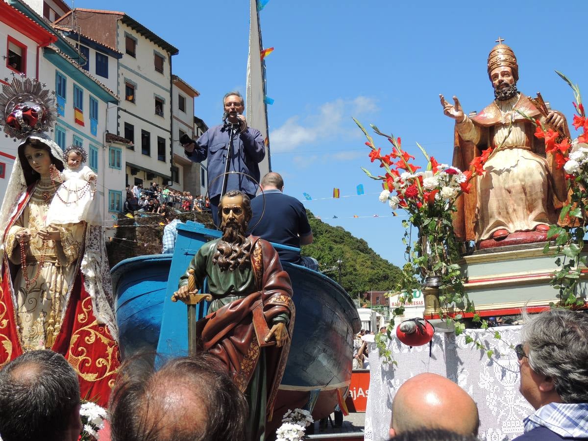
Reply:
[[[171, 297], [198, 249], [219, 235], [200, 223], [179, 224], [173, 255], [140, 256], [112, 268], [123, 359], [139, 352], [188, 353], [186, 306], [172, 302]], [[310, 403], [310, 407], [316, 405], [315, 417], [323, 417], [332, 412], [337, 391], [349, 386], [353, 336], [361, 322], [348, 293], [338, 283], [303, 266], [285, 262], [283, 267], [292, 280], [296, 321], [280, 385], [288, 399], [278, 397], [276, 415], [280, 415], [283, 401], [284, 411], [293, 409], [293, 403], [295, 407]], [[208, 302], [198, 305], [198, 318], [205, 316], [207, 309]]]

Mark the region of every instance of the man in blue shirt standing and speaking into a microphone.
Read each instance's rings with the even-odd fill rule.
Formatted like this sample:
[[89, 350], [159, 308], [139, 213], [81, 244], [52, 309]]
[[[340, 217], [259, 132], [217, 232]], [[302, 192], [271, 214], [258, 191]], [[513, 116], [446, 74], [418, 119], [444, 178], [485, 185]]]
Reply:
[[[180, 139], [186, 156], [193, 162], [208, 158], [208, 194], [211, 199], [212, 219], [218, 222], [218, 205], [223, 192], [223, 177], [230, 172], [242, 172], [259, 182], [259, 162], [265, 157], [263, 136], [258, 129], [247, 125], [243, 111], [245, 102], [239, 92], [229, 92], [223, 98], [225, 114], [223, 123], [206, 131], [198, 141], [183, 135]], [[227, 168], [227, 158], [229, 158]], [[255, 197], [257, 185], [245, 175], [226, 175], [225, 192], [240, 190]], [[218, 179], [216, 179], [218, 178]]]

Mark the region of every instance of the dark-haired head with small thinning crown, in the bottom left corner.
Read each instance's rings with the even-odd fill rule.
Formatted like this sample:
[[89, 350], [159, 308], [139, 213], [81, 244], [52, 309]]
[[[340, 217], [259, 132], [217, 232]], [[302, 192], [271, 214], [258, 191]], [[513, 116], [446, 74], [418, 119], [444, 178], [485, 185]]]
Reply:
[[78, 375], [64, 356], [32, 350], [0, 370], [0, 437], [4, 441], [77, 441]]

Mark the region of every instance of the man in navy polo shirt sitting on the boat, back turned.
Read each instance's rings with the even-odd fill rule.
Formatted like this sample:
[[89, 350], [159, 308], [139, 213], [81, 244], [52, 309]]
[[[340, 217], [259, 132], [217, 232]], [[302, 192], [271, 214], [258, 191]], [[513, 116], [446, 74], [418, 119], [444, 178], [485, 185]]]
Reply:
[[[260, 187], [265, 195], [265, 212], [263, 211], [263, 195], [251, 200], [253, 218], [249, 225], [250, 234], [260, 236], [269, 242], [300, 248], [300, 245], [312, 243], [312, 230], [306, 217], [306, 209], [302, 202], [282, 193], [284, 181], [282, 176], [269, 172], [263, 176]], [[258, 225], [256, 225], [259, 222]], [[278, 249], [282, 262], [292, 262], [318, 271], [319, 262], [308, 256], [300, 256], [299, 251]]]

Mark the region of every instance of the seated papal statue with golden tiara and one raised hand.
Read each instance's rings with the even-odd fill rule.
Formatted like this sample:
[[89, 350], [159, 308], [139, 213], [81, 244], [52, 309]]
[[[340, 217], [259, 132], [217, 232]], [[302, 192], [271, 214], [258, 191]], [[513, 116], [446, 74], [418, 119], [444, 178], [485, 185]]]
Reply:
[[566, 119], [560, 112], [539, 109], [517, 91], [515, 53], [501, 39], [497, 42], [487, 64], [495, 95], [490, 105], [468, 116], [456, 96], [451, 104], [440, 95], [443, 112], [455, 119], [454, 166], [469, 169], [483, 150], [499, 146], [486, 162], [486, 173], [457, 201], [456, 236], [474, 240], [479, 249], [546, 240], [567, 199], [563, 169], [545, 152], [544, 140], [535, 138], [534, 125], [525, 116], [569, 135]]

